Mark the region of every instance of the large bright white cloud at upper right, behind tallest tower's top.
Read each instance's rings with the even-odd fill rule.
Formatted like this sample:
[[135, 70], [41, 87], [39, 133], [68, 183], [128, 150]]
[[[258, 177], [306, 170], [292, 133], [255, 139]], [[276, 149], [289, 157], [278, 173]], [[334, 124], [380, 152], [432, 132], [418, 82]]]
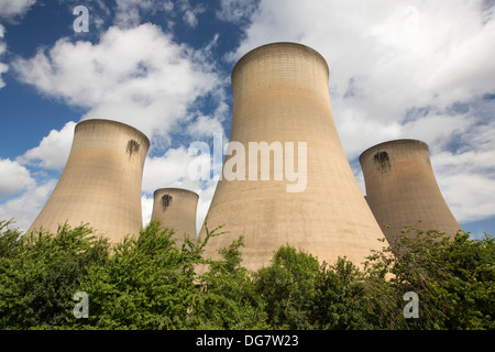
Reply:
[[[482, 2], [264, 0], [229, 57], [268, 42], [307, 44], [329, 63], [338, 122], [342, 106], [395, 121], [410, 107], [446, 107], [493, 88], [495, 21], [484, 23]], [[344, 98], [352, 88], [359, 95]]]

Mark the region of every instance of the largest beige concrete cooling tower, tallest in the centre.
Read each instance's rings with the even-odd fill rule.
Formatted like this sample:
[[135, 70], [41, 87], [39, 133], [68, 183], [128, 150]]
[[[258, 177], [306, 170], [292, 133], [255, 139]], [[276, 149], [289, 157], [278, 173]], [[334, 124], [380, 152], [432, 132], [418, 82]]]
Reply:
[[[229, 233], [212, 238], [206, 255], [218, 258], [218, 250], [240, 235], [245, 238], [243, 265], [251, 270], [268, 265], [274, 251], [285, 244], [320, 261], [333, 263], [338, 256], [346, 256], [358, 265], [370, 250], [380, 250], [383, 243], [377, 239], [384, 239], [383, 232], [355, 180], [333, 122], [324, 58], [295, 43], [257, 47], [233, 68], [232, 90], [229, 150], [233, 142], [244, 146], [246, 176], [245, 180], [224, 177], [232, 160], [242, 160], [237, 152], [228, 153], [207, 221], [209, 230], [226, 224], [222, 231]], [[272, 146], [279, 142], [284, 147], [283, 156], [271, 153], [270, 180], [261, 180], [262, 153], [249, 153], [250, 142]], [[275, 174], [280, 173], [274, 169], [275, 162], [284, 162], [283, 180], [275, 180]], [[293, 162], [295, 170], [306, 164], [307, 172], [299, 175], [306, 176], [306, 182], [288, 179], [287, 166], [292, 169]], [[248, 177], [253, 170], [257, 180]], [[297, 183], [301, 191], [288, 191], [287, 186]], [[204, 227], [200, 237], [205, 235]]]

